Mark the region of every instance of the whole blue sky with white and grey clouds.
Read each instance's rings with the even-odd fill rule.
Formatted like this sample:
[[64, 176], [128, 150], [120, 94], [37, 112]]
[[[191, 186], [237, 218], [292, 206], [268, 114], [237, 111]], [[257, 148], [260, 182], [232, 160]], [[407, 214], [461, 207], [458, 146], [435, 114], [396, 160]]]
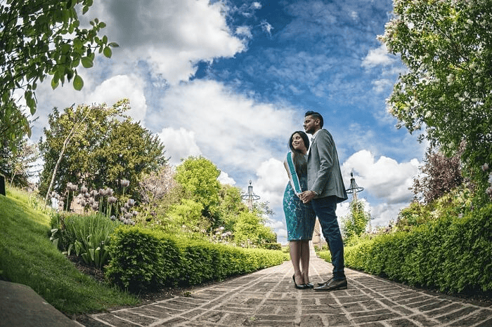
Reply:
[[129, 98], [129, 114], [160, 135], [171, 163], [202, 155], [222, 182], [246, 191], [252, 180], [285, 242], [282, 161], [290, 134], [314, 110], [335, 139], [346, 186], [353, 171], [365, 188], [359, 198], [373, 225], [387, 225], [412, 199], [425, 145], [397, 130], [385, 105], [405, 72], [377, 41], [391, 1], [95, 2], [83, 20], [106, 22], [104, 34], [120, 47], [79, 68], [80, 92], [39, 87], [33, 140], [53, 107]]

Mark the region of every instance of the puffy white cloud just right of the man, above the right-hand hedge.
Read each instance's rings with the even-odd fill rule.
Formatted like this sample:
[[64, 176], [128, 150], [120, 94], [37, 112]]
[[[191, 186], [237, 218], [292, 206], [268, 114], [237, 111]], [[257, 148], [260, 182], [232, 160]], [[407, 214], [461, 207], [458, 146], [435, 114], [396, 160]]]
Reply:
[[398, 163], [387, 156], [380, 156], [377, 161], [367, 150], [356, 152], [342, 165], [347, 188], [350, 185], [350, 172], [354, 170], [354, 178], [364, 192], [389, 204], [409, 202], [413, 193], [408, 189], [413, 185], [413, 177], [417, 174], [419, 162], [412, 159]]

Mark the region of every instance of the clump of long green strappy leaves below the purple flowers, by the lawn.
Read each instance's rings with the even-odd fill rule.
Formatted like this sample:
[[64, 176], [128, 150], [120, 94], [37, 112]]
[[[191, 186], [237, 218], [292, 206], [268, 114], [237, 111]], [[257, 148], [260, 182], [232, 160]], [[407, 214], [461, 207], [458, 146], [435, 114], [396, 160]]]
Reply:
[[121, 225], [105, 215], [58, 213], [51, 220], [51, 241], [68, 255], [75, 251], [88, 265], [101, 269], [108, 262], [110, 234]]

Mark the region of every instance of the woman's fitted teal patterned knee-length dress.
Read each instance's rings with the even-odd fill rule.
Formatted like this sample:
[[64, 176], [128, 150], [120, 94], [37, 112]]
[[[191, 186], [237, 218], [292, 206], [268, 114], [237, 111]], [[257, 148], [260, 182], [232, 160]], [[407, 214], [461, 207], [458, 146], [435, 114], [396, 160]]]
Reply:
[[[287, 154], [287, 156], [289, 154]], [[291, 176], [290, 173], [289, 175]], [[296, 175], [297, 178], [290, 178], [283, 194], [283, 211], [285, 213], [285, 223], [287, 225], [287, 241], [311, 241], [311, 239], [313, 239], [316, 214], [313, 211], [311, 203], [302, 203], [292, 187], [292, 180], [295, 181], [297, 179], [302, 192], [306, 191], [307, 173], [302, 175], [297, 173]]]

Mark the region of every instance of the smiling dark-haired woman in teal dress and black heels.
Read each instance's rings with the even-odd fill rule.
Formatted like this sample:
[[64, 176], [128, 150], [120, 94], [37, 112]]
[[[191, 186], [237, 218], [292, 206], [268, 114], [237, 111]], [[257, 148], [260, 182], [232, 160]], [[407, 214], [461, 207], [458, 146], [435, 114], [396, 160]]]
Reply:
[[[294, 266], [294, 286], [299, 289], [313, 288], [309, 283], [309, 241], [313, 238], [314, 214], [311, 203], [304, 204], [299, 194], [307, 189], [307, 149], [309, 138], [297, 131], [289, 139], [290, 152], [284, 161], [290, 182], [285, 187], [283, 210], [287, 225], [287, 241], [290, 259]], [[302, 269], [301, 269], [302, 268]]]

